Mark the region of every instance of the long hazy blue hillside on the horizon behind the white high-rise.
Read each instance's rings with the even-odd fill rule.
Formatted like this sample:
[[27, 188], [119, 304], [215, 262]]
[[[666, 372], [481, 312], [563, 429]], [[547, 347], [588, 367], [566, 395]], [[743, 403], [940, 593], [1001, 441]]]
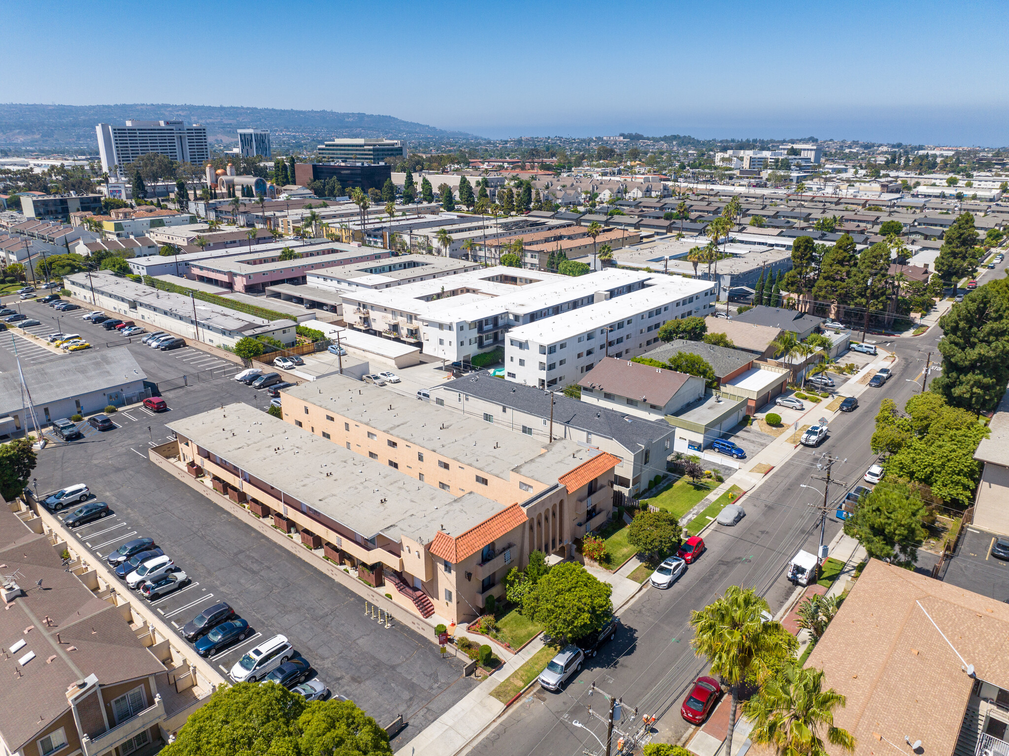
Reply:
[[182, 119], [207, 126], [212, 142], [238, 139], [235, 129], [268, 128], [277, 146], [314, 147], [333, 137], [423, 140], [469, 139], [472, 134], [444, 131], [389, 115], [335, 113], [331, 110], [275, 110], [212, 105], [22, 105], [0, 104], [0, 147], [98, 150], [95, 125], [139, 120]]

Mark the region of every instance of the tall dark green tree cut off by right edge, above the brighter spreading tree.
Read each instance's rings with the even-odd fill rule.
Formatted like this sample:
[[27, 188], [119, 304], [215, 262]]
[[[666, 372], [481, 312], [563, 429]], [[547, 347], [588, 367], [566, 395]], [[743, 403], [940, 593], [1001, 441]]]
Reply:
[[994, 411], [1009, 383], [1009, 280], [970, 293], [939, 319], [939, 327], [945, 334], [938, 347], [942, 372], [931, 390], [954, 407]]

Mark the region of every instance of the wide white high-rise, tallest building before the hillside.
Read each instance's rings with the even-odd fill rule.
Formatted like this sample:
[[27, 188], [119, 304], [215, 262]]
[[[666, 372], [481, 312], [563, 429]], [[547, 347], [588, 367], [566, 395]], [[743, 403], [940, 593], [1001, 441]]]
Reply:
[[125, 126], [99, 123], [98, 151], [102, 170], [116, 173], [141, 154], [159, 152], [180, 163], [194, 166], [210, 159], [207, 128], [199, 123], [187, 126], [184, 121], [126, 121]]

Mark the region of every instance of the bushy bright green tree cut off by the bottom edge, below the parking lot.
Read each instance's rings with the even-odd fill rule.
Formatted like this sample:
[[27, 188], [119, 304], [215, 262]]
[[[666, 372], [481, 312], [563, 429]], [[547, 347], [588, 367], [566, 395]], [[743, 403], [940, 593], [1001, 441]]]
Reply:
[[385, 730], [351, 700], [306, 701], [283, 685], [218, 688], [164, 756], [391, 756]]

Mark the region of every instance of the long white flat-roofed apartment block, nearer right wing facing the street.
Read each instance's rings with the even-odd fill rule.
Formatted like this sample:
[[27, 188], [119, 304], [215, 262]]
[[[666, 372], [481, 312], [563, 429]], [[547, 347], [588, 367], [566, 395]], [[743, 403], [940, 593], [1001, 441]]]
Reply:
[[704, 317], [715, 307], [709, 281], [665, 276], [653, 281], [658, 283], [619, 301], [605, 298], [511, 329], [504, 345], [507, 379], [541, 389], [576, 383], [604, 356], [630, 358], [648, 351], [666, 321]]

